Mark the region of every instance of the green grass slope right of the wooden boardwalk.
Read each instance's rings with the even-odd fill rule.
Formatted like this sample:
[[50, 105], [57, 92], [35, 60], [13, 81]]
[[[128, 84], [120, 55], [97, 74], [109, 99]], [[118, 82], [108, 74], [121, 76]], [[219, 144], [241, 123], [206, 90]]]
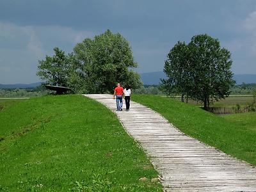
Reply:
[[256, 165], [256, 113], [221, 117], [168, 97], [133, 95], [132, 100], [157, 111], [185, 134]]

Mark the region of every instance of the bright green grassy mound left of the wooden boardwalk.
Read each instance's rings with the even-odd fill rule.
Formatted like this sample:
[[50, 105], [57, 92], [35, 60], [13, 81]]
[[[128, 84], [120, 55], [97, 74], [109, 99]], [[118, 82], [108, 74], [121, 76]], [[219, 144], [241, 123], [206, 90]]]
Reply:
[[0, 191], [162, 190], [143, 150], [92, 99], [23, 100], [0, 111], [0, 124]]

